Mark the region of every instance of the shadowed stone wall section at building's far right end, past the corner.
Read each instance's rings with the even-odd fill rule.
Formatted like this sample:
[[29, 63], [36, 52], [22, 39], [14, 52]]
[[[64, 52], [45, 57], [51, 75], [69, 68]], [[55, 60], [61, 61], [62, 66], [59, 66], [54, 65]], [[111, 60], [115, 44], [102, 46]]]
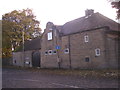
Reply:
[[106, 60], [108, 62], [107, 65], [110, 68], [118, 68], [118, 56], [119, 56], [118, 43], [120, 43], [118, 35], [115, 34], [106, 35]]

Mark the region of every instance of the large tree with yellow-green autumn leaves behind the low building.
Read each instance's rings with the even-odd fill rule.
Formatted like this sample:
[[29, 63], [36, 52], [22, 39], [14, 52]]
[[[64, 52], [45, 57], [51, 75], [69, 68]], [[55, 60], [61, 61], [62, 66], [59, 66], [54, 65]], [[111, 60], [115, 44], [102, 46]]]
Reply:
[[31, 9], [14, 10], [4, 14], [2, 16], [3, 55], [8, 56], [12, 48], [15, 50], [23, 39], [25, 41], [40, 36], [39, 24]]

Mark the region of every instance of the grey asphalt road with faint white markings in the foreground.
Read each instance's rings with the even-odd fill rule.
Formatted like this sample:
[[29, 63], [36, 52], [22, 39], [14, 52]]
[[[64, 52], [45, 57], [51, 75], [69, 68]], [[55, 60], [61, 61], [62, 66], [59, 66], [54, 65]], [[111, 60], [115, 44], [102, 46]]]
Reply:
[[115, 79], [83, 78], [31, 70], [3, 69], [3, 88], [118, 88]]

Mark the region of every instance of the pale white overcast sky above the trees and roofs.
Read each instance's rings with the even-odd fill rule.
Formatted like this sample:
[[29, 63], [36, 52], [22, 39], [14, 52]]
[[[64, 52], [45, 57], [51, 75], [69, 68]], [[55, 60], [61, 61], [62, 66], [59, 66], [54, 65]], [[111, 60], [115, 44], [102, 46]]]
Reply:
[[1, 0], [0, 18], [13, 10], [30, 8], [40, 27], [45, 29], [47, 22], [63, 25], [68, 21], [85, 15], [86, 9], [94, 9], [115, 21], [116, 9], [112, 8], [108, 0]]

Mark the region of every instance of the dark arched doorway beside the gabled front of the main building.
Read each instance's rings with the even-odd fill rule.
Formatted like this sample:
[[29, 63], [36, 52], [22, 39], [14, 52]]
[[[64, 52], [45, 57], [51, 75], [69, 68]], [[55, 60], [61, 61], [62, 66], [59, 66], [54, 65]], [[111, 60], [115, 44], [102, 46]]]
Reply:
[[32, 66], [40, 67], [40, 52], [39, 51], [34, 51], [32, 53]]

